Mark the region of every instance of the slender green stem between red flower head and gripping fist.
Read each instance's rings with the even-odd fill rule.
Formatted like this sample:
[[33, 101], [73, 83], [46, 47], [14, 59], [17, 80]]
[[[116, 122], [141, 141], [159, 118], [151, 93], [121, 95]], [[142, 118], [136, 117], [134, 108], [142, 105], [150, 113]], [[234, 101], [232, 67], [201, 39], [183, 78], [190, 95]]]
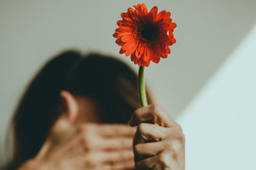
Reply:
[[139, 88], [141, 107], [147, 106], [148, 102], [147, 102], [146, 89], [145, 89], [144, 67], [142, 66], [140, 66], [140, 69], [139, 69], [138, 88]]

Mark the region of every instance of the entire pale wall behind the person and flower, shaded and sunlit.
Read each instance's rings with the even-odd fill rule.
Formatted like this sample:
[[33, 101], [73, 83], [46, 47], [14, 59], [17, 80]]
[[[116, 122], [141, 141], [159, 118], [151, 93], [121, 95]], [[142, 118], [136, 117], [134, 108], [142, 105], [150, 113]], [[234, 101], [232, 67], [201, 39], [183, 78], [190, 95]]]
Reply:
[[[184, 127], [188, 169], [217, 169], [217, 166], [218, 169], [246, 169], [235, 166], [238, 163], [248, 166], [247, 169], [253, 169], [249, 168], [252, 164], [247, 164], [249, 159], [253, 159], [252, 155], [240, 157], [239, 154], [243, 151], [242, 147], [246, 146], [244, 149], [249, 150], [252, 146], [246, 145], [243, 140], [252, 142], [251, 137], [255, 138], [252, 135], [245, 136], [246, 133], [237, 129], [239, 134], [243, 134], [240, 137], [232, 131], [232, 127], [238, 123], [237, 120], [243, 120], [239, 123], [245, 128], [249, 125], [247, 121], [252, 122], [255, 118], [252, 113], [256, 113], [255, 108], [247, 104], [249, 101], [253, 102], [250, 94], [254, 92], [255, 96], [252, 86], [253, 82], [255, 84], [252, 77], [255, 73], [252, 65], [255, 64], [255, 51], [243, 53], [236, 50], [256, 23], [256, 1], [140, 2], [147, 4], [148, 8], [157, 5], [159, 10], [171, 11], [174, 22], [178, 24], [174, 32], [177, 43], [172, 46], [172, 54], [159, 64], [148, 67], [146, 74], [147, 83], [158, 103], [173, 117], [178, 118]], [[31, 76], [49, 57], [66, 48], [77, 48], [83, 52], [93, 50], [116, 55], [138, 69], [128, 58], [118, 54], [119, 47], [112, 37], [117, 27], [116, 21], [120, 20], [120, 13], [136, 3], [138, 1], [0, 0], [0, 163], [5, 158], [4, 134], [13, 109]], [[256, 33], [251, 35], [254, 34]], [[253, 40], [251, 42], [254, 45], [256, 43]], [[243, 48], [247, 49], [239, 47]], [[240, 56], [241, 62], [246, 62], [243, 65], [239, 65], [240, 62], [232, 62], [235, 66], [228, 65], [235, 55]], [[247, 55], [251, 57], [246, 59]], [[219, 76], [214, 76], [200, 92], [205, 82], [226, 59], [228, 60], [221, 70], [227, 66], [230, 73], [219, 71]], [[236, 80], [232, 79], [237, 73], [241, 76], [235, 77]], [[246, 94], [243, 93], [244, 90], [247, 90]], [[195, 97], [198, 92], [199, 97]], [[220, 99], [225, 99], [225, 102]], [[188, 106], [189, 103], [191, 104]], [[216, 105], [212, 106], [212, 103]], [[239, 110], [236, 106], [246, 106], [246, 110]], [[234, 111], [239, 112], [233, 114], [234, 119], [228, 119]], [[213, 122], [218, 122], [216, 124], [220, 124], [220, 127], [215, 129], [217, 125]], [[225, 132], [227, 136], [224, 136]], [[221, 140], [224, 141], [222, 147]], [[228, 145], [229, 143], [234, 144]], [[242, 146], [237, 145], [239, 143]], [[217, 152], [216, 146], [220, 152]], [[241, 153], [247, 154], [249, 151]], [[226, 164], [223, 158], [232, 155], [232, 159], [228, 159]], [[225, 165], [225, 168], [221, 168], [221, 165]]]

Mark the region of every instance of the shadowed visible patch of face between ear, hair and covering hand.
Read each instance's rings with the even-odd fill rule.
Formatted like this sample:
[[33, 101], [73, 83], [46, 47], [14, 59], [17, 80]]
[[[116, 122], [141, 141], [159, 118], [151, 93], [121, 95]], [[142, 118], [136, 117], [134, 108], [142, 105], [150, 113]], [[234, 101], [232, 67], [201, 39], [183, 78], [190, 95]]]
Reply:
[[86, 122], [100, 123], [102, 120], [102, 111], [99, 103], [90, 97], [76, 96], [78, 105], [78, 115], [76, 124], [83, 124]]

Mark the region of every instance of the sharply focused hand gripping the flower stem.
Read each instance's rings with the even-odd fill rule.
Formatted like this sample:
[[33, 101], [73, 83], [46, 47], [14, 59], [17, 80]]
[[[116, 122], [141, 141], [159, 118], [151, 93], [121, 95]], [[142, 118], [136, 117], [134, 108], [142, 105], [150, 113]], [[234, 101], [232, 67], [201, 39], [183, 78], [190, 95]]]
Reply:
[[136, 169], [185, 169], [185, 138], [182, 129], [156, 104], [134, 111], [129, 121], [138, 126], [133, 141]]

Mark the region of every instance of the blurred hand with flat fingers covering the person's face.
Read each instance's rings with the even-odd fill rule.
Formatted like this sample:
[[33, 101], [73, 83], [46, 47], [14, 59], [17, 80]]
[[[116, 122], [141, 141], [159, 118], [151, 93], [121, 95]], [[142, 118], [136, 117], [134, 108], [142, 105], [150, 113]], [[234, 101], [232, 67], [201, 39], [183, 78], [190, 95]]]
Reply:
[[132, 138], [136, 129], [121, 124], [83, 124], [65, 129], [63, 122], [57, 123], [38, 155], [19, 170], [134, 168]]

